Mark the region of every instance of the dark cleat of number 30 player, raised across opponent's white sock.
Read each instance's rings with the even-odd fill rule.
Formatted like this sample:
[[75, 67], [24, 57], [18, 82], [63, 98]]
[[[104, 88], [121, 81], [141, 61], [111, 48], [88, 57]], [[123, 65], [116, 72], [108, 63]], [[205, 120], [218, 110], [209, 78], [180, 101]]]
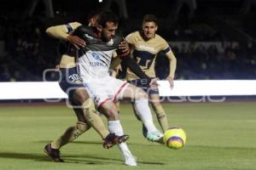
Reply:
[[108, 136], [103, 139], [103, 148], [110, 149], [114, 144], [120, 144], [129, 139], [128, 135], [117, 136], [114, 133], [109, 133]]

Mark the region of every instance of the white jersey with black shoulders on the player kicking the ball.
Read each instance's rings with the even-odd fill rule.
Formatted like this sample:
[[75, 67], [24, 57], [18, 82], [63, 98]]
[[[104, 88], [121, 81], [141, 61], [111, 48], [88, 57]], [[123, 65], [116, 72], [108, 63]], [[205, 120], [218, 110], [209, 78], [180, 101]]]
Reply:
[[[108, 75], [113, 52], [117, 50], [122, 37], [113, 37], [109, 42], [103, 42], [96, 37], [93, 27], [79, 26], [74, 35], [79, 36], [86, 43], [85, 48], [79, 50], [79, 74], [82, 79], [98, 79]], [[119, 52], [119, 50], [117, 50]]]

